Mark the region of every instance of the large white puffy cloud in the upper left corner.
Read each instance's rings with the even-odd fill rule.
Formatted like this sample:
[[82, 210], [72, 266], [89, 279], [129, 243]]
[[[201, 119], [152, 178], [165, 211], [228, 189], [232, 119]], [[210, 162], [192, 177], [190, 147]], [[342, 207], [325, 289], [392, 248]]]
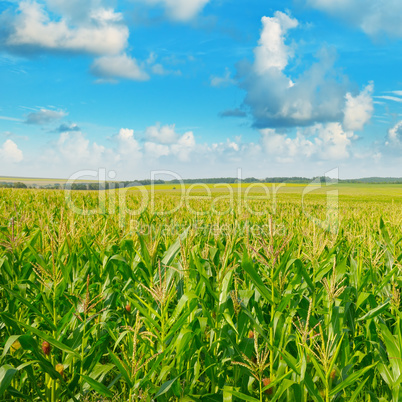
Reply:
[[97, 8], [74, 26], [63, 17], [52, 20], [44, 5], [36, 1], [22, 1], [13, 21], [8, 22], [10, 34], [5, 44], [15, 50], [118, 54], [129, 36], [120, 20], [121, 14]]

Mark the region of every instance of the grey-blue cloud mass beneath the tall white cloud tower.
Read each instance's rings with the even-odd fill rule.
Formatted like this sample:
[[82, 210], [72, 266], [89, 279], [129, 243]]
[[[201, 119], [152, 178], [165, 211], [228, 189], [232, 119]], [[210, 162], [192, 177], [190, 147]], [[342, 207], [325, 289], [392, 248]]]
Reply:
[[293, 82], [283, 71], [270, 68], [259, 74], [250, 66], [240, 82], [254, 125], [309, 126], [342, 118], [346, 84], [334, 70], [335, 54], [323, 49], [318, 61]]

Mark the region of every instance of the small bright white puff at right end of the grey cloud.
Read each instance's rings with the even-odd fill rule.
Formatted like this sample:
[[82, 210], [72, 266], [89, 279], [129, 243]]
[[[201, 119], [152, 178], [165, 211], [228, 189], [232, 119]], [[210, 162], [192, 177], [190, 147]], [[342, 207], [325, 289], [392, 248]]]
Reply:
[[364, 125], [371, 119], [373, 114], [373, 93], [374, 85], [370, 83], [356, 97], [350, 92], [346, 94], [346, 105], [344, 108], [343, 125], [346, 130], [362, 130]]

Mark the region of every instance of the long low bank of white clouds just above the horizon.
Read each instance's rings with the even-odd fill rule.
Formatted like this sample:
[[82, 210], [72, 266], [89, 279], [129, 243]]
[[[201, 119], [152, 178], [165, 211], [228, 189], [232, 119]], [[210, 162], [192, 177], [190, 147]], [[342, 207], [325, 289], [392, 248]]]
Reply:
[[[402, 123], [390, 131], [390, 138], [396, 141], [401, 135]], [[80, 131], [65, 131], [45, 147], [35, 163], [42, 164], [43, 174], [52, 169], [68, 176], [80, 169], [105, 167], [129, 180], [149, 177], [151, 170], [158, 169], [173, 170], [183, 177], [214, 176], [217, 171], [235, 175], [239, 166], [249, 172], [247, 175], [257, 177], [284, 172], [294, 175], [295, 168], [300, 175], [319, 175], [333, 168], [335, 162], [346, 164], [350, 157], [359, 157], [352, 147], [355, 139], [353, 131], [332, 122], [293, 131], [262, 129], [258, 143], [242, 143], [236, 137], [208, 144], [197, 143], [192, 131], [179, 134], [174, 125], [156, 124], [145, 130], [144, 137], [133, 129], [121, 128], [108, 144], [100, 144]]]

